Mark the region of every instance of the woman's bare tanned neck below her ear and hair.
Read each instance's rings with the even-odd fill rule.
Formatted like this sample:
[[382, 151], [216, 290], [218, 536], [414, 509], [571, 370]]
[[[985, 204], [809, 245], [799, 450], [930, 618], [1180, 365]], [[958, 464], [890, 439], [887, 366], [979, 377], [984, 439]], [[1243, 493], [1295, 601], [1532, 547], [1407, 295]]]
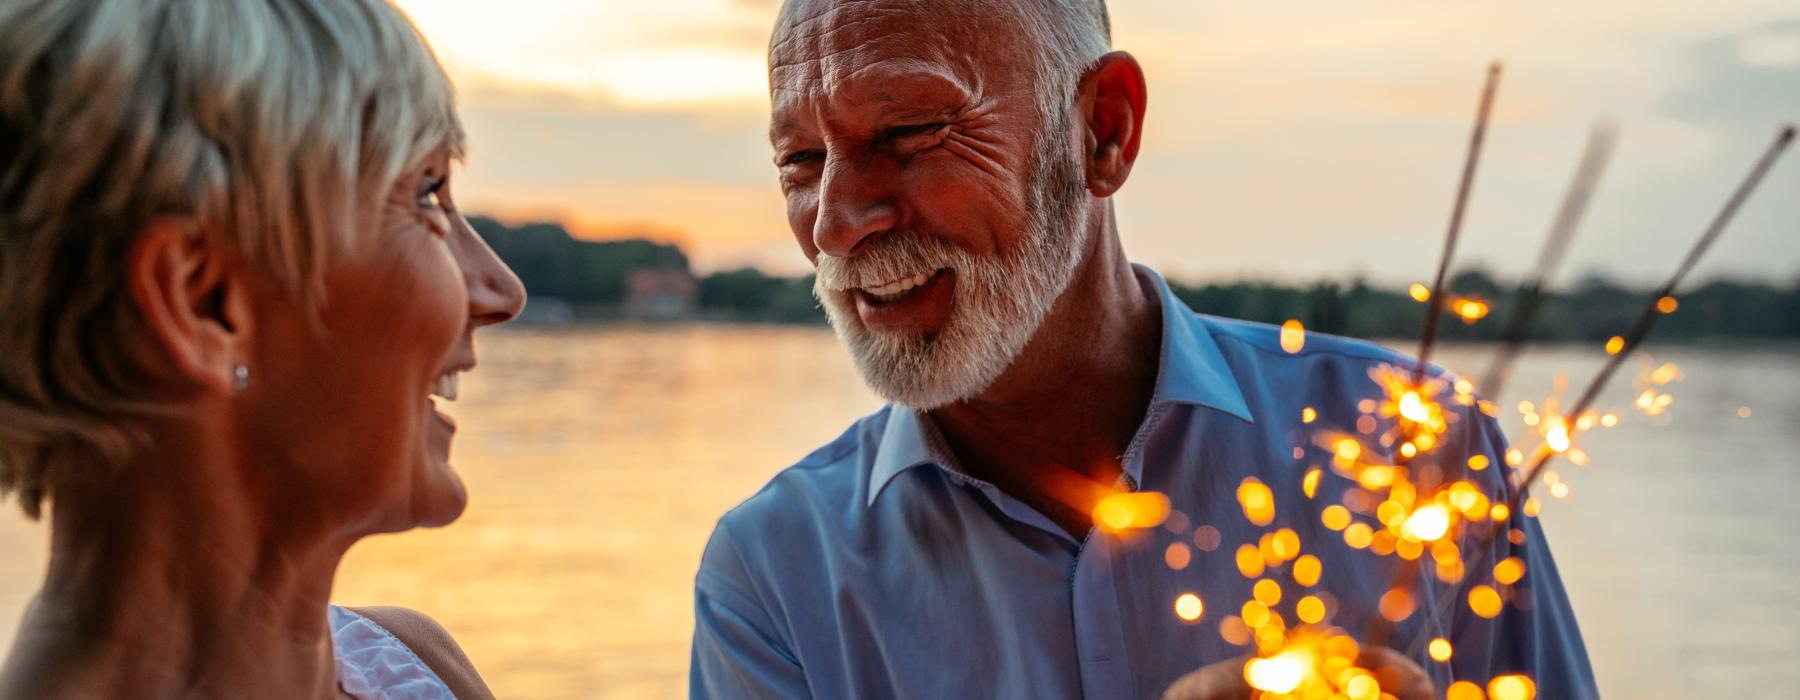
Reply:
[[164, 435], [56, 493], [49, 576], [0, 696], [337, 698], [326, 605], [349, 542], [270, 518], [238, 450]]

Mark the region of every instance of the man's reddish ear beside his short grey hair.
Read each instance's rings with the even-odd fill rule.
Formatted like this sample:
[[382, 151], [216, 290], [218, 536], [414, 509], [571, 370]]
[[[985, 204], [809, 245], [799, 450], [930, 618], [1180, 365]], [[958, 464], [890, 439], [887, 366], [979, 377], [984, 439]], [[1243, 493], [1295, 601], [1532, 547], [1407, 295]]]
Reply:
[[1148, 97], [1143, 67], [1123, 50], [1105, 54], [1082, 76], [1078, 95], [1087, 191], [1094, 196], [1112, 196], [1125, 185], [1130, 166], [1138, 162], [1143, 106]]

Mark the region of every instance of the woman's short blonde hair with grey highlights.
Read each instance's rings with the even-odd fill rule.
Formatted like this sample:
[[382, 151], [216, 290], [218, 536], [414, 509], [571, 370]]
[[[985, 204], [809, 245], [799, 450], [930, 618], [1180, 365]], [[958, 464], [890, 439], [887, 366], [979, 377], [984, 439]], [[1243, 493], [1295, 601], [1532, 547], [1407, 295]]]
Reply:
[[450, 81], [385, 0], [0, 5], [0, 497], [29, 516], [155, 410], [124, 265], [173, 216], [322, 302], [326, 259], [430, 153]]

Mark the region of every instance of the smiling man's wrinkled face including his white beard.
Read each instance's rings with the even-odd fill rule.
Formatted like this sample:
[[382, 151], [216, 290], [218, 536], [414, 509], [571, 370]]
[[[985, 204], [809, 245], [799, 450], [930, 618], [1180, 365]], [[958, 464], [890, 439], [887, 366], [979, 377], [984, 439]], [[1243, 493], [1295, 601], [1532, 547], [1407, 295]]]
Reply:
[[1015, 9], [972, 5], [796, 0], [770, 47], [788, 225], [857, 369], [913, 408], [1004, 372], [1085, 230], [1073, 85], [1040, 83]]

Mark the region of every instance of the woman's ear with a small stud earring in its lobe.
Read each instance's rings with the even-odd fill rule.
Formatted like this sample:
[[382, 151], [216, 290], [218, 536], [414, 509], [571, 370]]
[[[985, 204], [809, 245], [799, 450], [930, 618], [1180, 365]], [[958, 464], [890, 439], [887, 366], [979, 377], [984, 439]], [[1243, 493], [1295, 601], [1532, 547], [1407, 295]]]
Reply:
[[126, 284], [169, 380], [230, 392], [248, 362], [248, 299], [229, 256], [184, 220], [146, 225], [126, 261]]

